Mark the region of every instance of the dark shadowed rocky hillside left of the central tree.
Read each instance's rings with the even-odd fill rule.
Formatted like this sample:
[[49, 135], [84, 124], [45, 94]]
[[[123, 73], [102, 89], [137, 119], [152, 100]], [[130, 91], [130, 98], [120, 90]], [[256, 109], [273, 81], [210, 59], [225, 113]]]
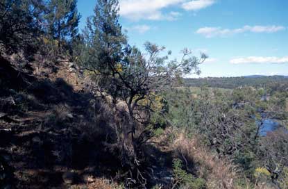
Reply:
[[0, 63], [0, 186], [115, 188], [100, 165], [117, 163], [101, 147], [106, 123], [94, 119], [108, 106], [96, 104], [89, 79], [66, 60], [12, 63]]

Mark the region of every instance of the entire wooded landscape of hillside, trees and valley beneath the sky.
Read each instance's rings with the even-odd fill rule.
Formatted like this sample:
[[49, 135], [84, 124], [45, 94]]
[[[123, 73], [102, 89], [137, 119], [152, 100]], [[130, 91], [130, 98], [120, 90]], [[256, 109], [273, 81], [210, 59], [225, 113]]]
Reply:
[[1, 189], [288, 188], [287, 77], [187, 79], [207, 55], [131, 46], [117, 0], [80, 17], [0, 0]]

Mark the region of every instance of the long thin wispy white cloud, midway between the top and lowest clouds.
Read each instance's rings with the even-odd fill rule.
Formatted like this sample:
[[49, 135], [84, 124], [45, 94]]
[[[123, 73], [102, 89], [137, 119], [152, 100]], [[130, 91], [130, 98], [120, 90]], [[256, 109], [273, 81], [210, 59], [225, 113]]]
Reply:
[[284, 31], [284, 26], [243, 26], [242, 28], [228, 29], [221, 27], [204, 27], [199, 28], [196, 33], [204, 35], [205, 38], [213, 37], [226, 37], [228, 35], [235, 35], [237, 33], [276, 33], [278, 31]]

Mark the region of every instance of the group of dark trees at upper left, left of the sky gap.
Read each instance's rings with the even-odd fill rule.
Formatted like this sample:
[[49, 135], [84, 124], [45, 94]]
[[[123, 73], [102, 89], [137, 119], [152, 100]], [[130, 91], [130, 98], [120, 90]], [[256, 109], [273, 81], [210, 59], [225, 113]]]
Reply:
[[[1, 0], [0, 53], [21, 52], [27, 58], [40, 53], [49, 59], [72, 54], [78, 44], [76, 0]], [[51, 57], [49, 57], [51, 55]], [[53, 60], [51, 60], [53, 61]]]

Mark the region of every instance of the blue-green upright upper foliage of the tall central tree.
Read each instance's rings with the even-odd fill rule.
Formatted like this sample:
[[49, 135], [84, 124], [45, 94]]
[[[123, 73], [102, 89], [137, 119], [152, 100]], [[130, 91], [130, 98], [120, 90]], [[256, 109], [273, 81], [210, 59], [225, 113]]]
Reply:
[[94, 15], [87, 19], [84, 31], [86, 49], [83, 66], [110, 74], [110, 66], [121, 63], [122, 49], [127, 40], [119, 24], [119, 7], [116, 0], [99, 0]]

